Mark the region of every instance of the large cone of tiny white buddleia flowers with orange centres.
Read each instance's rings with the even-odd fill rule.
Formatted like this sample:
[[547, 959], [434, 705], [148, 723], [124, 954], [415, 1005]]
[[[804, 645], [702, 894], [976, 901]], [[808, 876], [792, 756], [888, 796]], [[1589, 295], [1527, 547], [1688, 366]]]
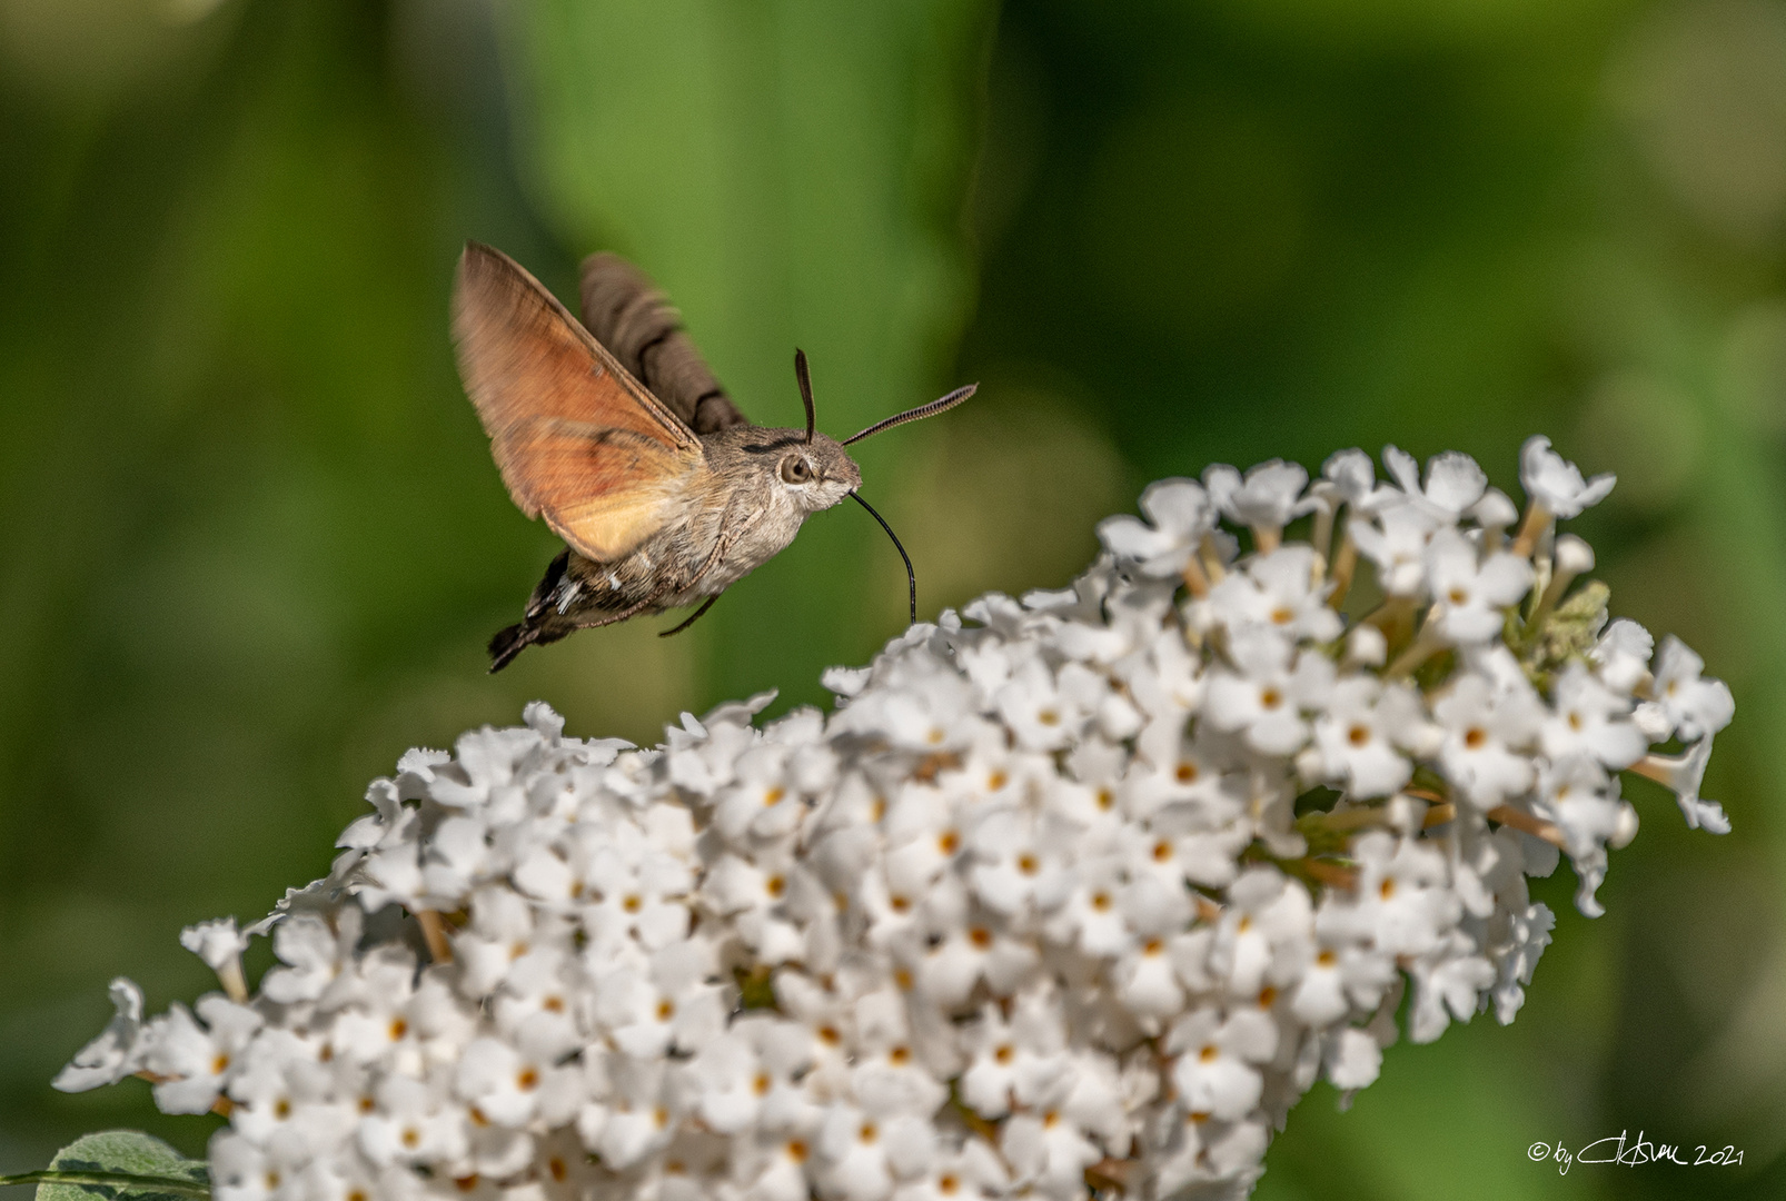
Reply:
[[220, 1201], [1245, 1196], [1404, 1001], [1415, 1042], [1513, 1019], [1527, 876], [1568, 854], [1598, 911], [1620, 772], [1729, 829], [1729, 690], [1573, 586], [1556, 518], [1611, 477], [1534, 438], [1522, 520], [1466, 456], [1384, 463], [1161, 481], [829, 717], [411, 751], [327, 879], [188, 931], [225, 992], [145, 1022], [118, 981], [57, 1085], [225, 1113]]

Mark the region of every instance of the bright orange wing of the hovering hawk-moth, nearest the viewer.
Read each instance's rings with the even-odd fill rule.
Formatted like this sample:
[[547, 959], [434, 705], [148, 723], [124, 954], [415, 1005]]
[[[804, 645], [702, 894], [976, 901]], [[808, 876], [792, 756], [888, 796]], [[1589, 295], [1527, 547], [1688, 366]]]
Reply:
[[579, 554], [627, 554], [707, 470], [695, 433], [500, 250], [461, 256], [454, 338], [509, 495]]

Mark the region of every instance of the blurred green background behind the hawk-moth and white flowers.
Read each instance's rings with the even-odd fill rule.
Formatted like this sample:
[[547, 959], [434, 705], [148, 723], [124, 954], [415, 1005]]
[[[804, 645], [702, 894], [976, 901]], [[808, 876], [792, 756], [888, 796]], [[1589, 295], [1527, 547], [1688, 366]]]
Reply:
[[[466, 238], [613, 247], [759, 422], [791, 350], [934, 613], [1064, 583], [1209, 461], [1384, 441], [1613, 499], [1615, 609], [1729, 677], [1711, 795], [1561, 915], [1513, 1028], [1293, 1115], [1259, 1196], [1786, 1196], [1786, 5], [1766, 0], [0, 0], [0, 1169], [130, 1124], [48, 1088], [105, 981], [321, 874], [371, 776], [545, 697], [654, 740], [822, 701], [904, 611], [836, 509], [689, 634], [484, 674], [552, 536], [454, 375]], [[264, 962], [264, 951], [259, 953]], [[1740, 1169], [1529, 1163], [1638, 1130]]]

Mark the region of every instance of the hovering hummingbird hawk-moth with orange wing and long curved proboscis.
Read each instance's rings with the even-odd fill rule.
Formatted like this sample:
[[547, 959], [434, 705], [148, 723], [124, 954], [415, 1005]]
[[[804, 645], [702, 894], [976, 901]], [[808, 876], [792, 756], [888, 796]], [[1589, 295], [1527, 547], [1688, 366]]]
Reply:
[[[813, 381], [795, 350], [805, 429], [752, 425], [713, 377], [650, 279], [613, 254], [582, 261], [582, 322], [514, 259], [466, 243], [454, 279], [459, 375], [509, 497], [564, 550], [522, 620], [489, 640], [489, 670], [536, 643], [700, 604], [766, 563], [800, 524], [859, 495], [845, 447], [950, 409], [973, 384], [838, 441], [814, 429]], [[898, 538], [893, 538], [898, 547]], [[906, 559], [911, 618], [918, 584]]]

